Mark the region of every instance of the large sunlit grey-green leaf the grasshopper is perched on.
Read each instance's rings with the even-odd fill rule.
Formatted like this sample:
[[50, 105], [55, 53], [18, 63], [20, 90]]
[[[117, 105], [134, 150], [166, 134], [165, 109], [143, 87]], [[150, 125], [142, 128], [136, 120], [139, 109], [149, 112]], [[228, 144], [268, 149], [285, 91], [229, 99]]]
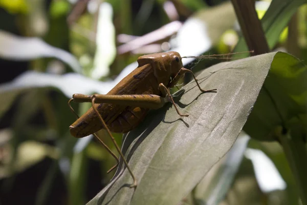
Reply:
[[[122, 163], [113, 180], [89, 204], [178, 204], [232, 147], [256, 101], [276, 53], [217, 64], [177, 95], [182, 113], [171, 104], [152, 111], [123, 139], [123, 153], [138, 180]], [[175, 95], [176, 95], [175, 94]], [[180, 100], [179, 100], [180, 98]]]

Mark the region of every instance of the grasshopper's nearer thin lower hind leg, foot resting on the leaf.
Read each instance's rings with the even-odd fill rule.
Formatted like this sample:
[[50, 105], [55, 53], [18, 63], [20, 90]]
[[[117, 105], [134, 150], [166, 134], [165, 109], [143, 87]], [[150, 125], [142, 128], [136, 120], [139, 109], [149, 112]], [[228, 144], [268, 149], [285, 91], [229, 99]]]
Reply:
[[107, 131], [107, 133], [108, 133], [109, 136], [111, 137], [111, 139], [112, 139], [112, 141], [113, 141], [113, 143], [114, 143], [114, 145], [115, 145], [115, 148], [117, 149], [117, 151], [118, 151], [118, 153], [120, 154], [120, 156], [123, 158], [123, 161], [124, 161], [124, 163], [125, 163], [125, 165], [126, 165], [128, 171], [129, 171], [131, 177], [133, 178], [134, 183], [133, 183], [133, 185], [130, 185], [130, 188], [135, 188], [135, 187], [137, 187], [137, 185], [138, 185], [137, 179], [136, 179], [136, 177], [134, 176], [133, 172], [131, 171], [131, 169], [130, 169], [130, 167], [129, 167], [129, 165], [128, 165], [128, 162], [127, 162], [127, 160], [125, 159], [123, 153], [121, 152], [119, 146], [117, 145], [117, 143], [116, 143], [116, 141], [115, 141], [115, 138], [113, 137], [111, 131], [108, 129], [107, 125], [105, 124], [105, 121], [103, 120], [102, 116], [99, 114], [97, 108], [95, 107], [95, 99], [96, 99], [96, 96], [95, 96], [95, 95], [92, 95], [92, 106], [93, 106], [93, 109], [95, 110], [97, 116], [99, 117], [99, 119], [100, 119], [100, 121], [101, 121], [103, 127], [105, 128], [105, 130]]

